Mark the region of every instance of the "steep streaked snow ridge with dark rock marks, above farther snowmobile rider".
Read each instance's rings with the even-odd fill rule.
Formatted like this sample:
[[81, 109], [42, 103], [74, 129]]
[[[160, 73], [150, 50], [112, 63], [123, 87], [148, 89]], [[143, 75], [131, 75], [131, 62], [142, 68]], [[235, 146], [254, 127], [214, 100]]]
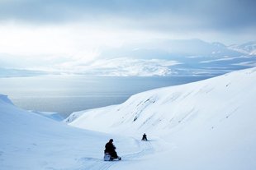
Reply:
[[125, 103], [111, 108], [79, 112], [70, 125], [97, 131], [129, 131], [130, 127], [136, 131], [172, 130], [198, 114], [203, 116], [209, 110], [211, 116], [223, 110], [230, 113], [243, 103], [242, 99], [255, 99], [251, 95], [255, 91], [255, 80], [256, 68], [253, 68], [211, 80], [150, 90], [135, 94]]

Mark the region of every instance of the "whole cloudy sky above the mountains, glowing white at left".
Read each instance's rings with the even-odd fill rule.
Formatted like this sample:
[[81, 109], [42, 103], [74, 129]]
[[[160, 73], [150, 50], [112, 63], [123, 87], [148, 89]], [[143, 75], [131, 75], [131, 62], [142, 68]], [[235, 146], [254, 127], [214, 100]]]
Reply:
[[254, 0], [0, 0], [0, 53], [92, 61], [149, 39], [256, 39]]

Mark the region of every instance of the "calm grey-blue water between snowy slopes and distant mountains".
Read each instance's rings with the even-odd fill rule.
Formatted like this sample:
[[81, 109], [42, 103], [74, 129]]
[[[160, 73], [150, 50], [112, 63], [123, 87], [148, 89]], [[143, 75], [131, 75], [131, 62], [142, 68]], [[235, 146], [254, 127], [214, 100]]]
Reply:
[[132, 94], [209, 77], [33, 76], [0, 78], [0, 94], [29, 110], [70, 113], [123, 103]]

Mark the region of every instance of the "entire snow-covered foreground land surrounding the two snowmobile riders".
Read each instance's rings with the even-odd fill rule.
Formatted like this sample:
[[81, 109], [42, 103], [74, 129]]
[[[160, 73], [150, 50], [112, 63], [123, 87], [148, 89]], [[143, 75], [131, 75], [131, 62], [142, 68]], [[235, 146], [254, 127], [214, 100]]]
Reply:
[[[253, 170], [255, 94], [251, 68], [73, 113], [70, 126], [0, 95], [0, 169]], [[121, 161], [102, 159], [110, 138]]]

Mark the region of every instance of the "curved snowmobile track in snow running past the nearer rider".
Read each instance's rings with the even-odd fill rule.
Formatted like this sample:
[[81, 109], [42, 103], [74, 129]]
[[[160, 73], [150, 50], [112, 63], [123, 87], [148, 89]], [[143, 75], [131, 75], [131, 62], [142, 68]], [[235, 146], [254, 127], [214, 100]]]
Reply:
[[[148, 141], [142, 141], [136, 140], [138, 145], [140, 145], [140, 150], [135, 153], [131, 154], [125, 154], [121, 156], [121, 161], [128, 160], [129, 159], [139, 159], [140, 157], [143, 157], [147, 154], [153, 154], [154, 153], [154, 147], [151, 144], [151, 142]], [[119, 160], [114, 161], [104, 161], [103, 156], [102, 159], [95, 159], [95, 158], [82, 158], [81, 161], [84, 162], [83, 167], [77, 168], [75, 170], [107, 170], [111, 168], [112, 165], [116, 163], [120, 163]]]

